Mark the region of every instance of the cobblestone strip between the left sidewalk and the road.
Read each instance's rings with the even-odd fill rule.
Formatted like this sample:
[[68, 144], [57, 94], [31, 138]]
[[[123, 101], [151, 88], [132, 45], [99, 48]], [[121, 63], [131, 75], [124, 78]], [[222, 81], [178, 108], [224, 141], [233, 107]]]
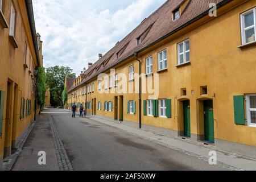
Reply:
[[68, 158], [67, 152], [65, 151], [64, 145], [61, 142], [59, 132], [57, 131], [53, 123], [52, 115], [49, 116], [49, 123], [52, 129], [52, 135], [60, 171], [73, 171], [72, 164]]

